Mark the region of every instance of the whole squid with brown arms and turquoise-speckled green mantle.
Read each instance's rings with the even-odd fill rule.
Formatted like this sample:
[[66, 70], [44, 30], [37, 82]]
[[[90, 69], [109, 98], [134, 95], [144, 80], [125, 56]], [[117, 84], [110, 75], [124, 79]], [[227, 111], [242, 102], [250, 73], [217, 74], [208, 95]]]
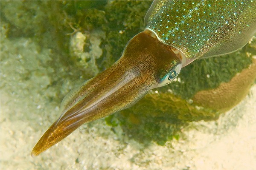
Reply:
[[134, 105], [180, 69], [243, 47], [256, 33], [256, 1], [154, 1], [145, 30], [110, 68], [64, 97], [59, 117], [32, 150], [37, 156], [79, 126]]

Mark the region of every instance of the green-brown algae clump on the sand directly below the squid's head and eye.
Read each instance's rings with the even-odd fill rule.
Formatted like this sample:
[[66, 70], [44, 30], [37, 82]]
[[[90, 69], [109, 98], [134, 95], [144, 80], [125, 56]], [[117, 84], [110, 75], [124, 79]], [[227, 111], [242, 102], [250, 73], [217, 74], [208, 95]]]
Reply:
[[198, 120], [216, 120], [218, 111], [199, 107], [174, 94], [147, 94], [132, 108], [107, 117], [108, 125], [120, 125], [126, 134], [139, 142], [147, 144], [154, 141], [163, 145], [178, 138], [180, 129], [187, 122]]

